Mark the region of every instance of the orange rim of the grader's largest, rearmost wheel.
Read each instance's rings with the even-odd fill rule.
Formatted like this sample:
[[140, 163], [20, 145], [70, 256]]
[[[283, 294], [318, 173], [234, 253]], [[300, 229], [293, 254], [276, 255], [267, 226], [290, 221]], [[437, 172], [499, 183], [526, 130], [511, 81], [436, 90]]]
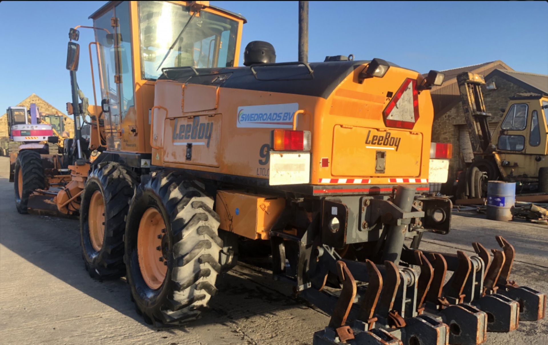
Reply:
[[137, 233], [137, 256], [142, 278], [152, 290], [162, 286], [165, 273], [165, 252], [167, 238], [165, 237], [164, 218], [155, 208], [149, 208], [141, 217]]

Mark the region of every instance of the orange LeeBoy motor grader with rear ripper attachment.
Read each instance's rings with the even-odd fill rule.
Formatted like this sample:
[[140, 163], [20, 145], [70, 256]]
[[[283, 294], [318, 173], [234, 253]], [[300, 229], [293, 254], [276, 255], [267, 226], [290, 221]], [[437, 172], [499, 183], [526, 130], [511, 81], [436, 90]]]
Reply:
[[476, 344], [544, 317], [545, 295], [509, 280], [503, 238], [493, 259], [478, 243], [470, 257], [418, 249], [450, 229], [450, 200], [427, 195], [451, 155], [431, 143], [442, 73], [276, 63], [262, 41], [237, 67], [246, 19], [208, 2], [109, 2], [90, 18], [100, 105], [78, 89], [79, 27], [67, 53], [89, 146], [78, 120], [70, 172], [21, 154], [16, 203], [78, 214], [89, 274], [125, 275], [147, 323], [197, 319], [242, 240], [269, 244], [274, 277], [333, 315], [316, 344]]

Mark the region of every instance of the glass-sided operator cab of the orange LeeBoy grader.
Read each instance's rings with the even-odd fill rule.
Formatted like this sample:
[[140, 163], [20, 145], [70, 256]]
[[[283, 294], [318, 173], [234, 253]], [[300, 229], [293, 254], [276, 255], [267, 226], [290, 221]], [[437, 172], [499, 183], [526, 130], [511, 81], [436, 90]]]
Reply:
[[[94, 73], [100, 89], [94, 109], [101, 127], [93, 130], [100, 141], [92, 135], [92, 142], [138, 153], [151, 152], [150, 111], [163, 69], [189, 68], [197, 74], [196, 68], [237, 66], [246, 22], [208, 1], [111, 1], [89, 18], [95, 35], [90, 55], [94, 49], [97, 61], [93, 89]], [[77, 41], [78, 34], [71, 29], [69, 36]]]

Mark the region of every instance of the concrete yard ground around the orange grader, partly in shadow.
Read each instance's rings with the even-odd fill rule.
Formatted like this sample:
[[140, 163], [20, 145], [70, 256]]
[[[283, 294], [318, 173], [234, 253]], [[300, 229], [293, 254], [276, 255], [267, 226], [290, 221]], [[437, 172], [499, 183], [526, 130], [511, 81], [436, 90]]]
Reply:
[[[0, 343], [2, 344], [311, 344], [328, 315], [290, 297], [270, 272], [238, 264], [218, 279], [203, 318], [156, 331], [135, 312], [124, 279], [96, 281], [84, 271], [78, 221], [20, 215], [0, 157]], [[454, 215], [448, 235], [426, 234], [424, 249], [472, 253], [471, 241], [497, 248], [503, 235], [517, 251], [512, 278], [548, 292], [548, 229]], [[548, 343], [548, 322], [522, 322], [489, 333], [486, 344]]]

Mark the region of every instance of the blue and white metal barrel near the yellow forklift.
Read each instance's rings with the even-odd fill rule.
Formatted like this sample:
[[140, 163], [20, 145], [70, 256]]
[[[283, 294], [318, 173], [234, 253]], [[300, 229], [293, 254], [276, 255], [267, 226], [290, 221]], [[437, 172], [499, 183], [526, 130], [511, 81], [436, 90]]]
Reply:
[[512, 210], [515, 203], [516, 182], [487, 182], [487, 219], [512, 220]]

